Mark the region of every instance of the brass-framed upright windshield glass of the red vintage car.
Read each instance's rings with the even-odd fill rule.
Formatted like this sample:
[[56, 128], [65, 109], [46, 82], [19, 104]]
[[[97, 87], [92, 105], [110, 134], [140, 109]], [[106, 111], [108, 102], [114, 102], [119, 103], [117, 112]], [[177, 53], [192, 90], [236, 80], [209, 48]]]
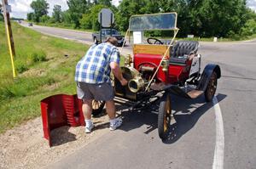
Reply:
[[129, 30], [175, 30], [176, 21], [176, 13], [134, 15], [131, 16]]

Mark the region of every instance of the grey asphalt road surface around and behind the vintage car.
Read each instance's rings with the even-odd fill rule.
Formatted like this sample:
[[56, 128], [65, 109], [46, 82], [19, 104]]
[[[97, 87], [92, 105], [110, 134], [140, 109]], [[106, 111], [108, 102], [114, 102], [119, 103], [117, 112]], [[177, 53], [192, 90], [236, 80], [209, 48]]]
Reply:
[[[81, 31], [36, 25], [32, 29], [90, 44], [92, 41], [90, 33]], [[131, 53], [130, 48], [125, 50]], [[219, 147], [224, 153], [224, 168], [255, 169], [256, 41], [201, 42], [199, 54], [203, 67], [207, 63], [221, 67], [216, 93], [220, 110], [214, 109], [213, 103], [206, 104], [203, 97], [189, 100], [172, 96], [175, 121], [165, 142], [158, 137], [157, 105], [143, 112], [123, 111], [122, 127], [47, 168], [223, 168], [214, 165], [223, 160], [218, 158]], [[222, 119], [218, 119], [217, 111]], [[224, 123], [224, 144], [216, 139], [219, 121]]]

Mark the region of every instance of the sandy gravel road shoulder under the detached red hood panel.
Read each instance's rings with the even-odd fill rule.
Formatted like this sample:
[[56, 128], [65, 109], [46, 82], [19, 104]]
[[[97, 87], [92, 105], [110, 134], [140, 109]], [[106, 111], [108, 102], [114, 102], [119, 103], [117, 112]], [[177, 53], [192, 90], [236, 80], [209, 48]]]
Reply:
[[0, 168], [42, 168], [70, 155], [96, 138], [108, 133], [108, 115], [93, 119], [96, 129], [61, 127], [51, 132], [53, 147], [43, 138], [41, 117], [0, 135]]

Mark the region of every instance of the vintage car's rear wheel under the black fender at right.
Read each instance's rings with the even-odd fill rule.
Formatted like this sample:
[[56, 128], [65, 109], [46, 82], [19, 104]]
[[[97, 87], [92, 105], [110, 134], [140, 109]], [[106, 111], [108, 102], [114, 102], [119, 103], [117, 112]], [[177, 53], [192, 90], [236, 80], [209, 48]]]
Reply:
[[[213, 91], [212, 91], [212, 83], [214, 84]], [[215, 71], [212, 72], [212, 76], [210, 77], [210, 81], [207, 84], [207, 89], [205, 91], [205, 99], [207, 102], [211, 102], [212, 98], [217, 89], [217, 74]]]

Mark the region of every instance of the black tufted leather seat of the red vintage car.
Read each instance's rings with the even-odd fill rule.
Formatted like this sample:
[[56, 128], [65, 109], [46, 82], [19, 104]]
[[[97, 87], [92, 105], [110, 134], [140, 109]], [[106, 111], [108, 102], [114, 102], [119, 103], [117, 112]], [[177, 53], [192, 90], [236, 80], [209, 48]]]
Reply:
[[199, 43], [196, 41], [178, 41], [171, 51], [171, 58], [183, 58], [191, 52], [197, 52]]

